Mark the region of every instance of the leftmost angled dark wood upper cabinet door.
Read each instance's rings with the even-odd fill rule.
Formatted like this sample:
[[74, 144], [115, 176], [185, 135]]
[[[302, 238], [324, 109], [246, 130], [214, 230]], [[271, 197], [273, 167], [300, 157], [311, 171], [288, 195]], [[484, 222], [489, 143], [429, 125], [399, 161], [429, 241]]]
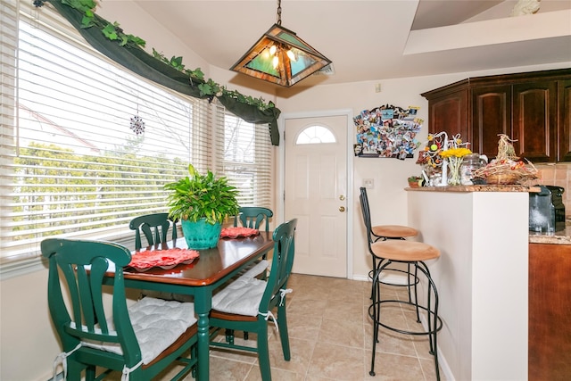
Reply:
[[435, 97], [428, 101], [428, 132], [446, 131], [448, 137], [460, 134], [462, 140], [470, 141], [468, 135], [468, 89]]

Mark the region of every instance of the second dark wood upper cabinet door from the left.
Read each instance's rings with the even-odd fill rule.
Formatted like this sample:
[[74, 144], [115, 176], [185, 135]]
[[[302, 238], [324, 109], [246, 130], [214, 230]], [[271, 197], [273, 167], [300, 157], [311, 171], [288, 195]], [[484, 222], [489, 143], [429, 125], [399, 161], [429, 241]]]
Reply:
[[484, 153], [489, 159], [495, 157], [498, 136], [511, 136], [511, 86], [472, 89], [472, 130], [472, 152]]

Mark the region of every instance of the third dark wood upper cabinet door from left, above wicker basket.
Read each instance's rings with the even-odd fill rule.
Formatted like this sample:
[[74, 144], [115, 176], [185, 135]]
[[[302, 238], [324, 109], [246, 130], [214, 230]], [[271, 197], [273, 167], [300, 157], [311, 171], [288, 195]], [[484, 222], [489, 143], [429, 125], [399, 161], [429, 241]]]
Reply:
[[532, 162], [557, 158], [557, 82], [513, 85], [512, 137], [517, 156]]

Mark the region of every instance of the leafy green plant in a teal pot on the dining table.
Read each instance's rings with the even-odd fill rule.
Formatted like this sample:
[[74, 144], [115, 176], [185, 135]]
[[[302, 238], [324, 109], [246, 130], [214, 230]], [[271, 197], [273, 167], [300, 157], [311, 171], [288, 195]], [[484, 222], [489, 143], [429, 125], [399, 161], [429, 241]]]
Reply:
[[189, 249], [210, 249], [218, 244], [224, 219], [238, 213], [238, 190], [228, 178], [215, 178], [210, 170], [203, 175], [189, 164], [188, 173], [164, 186], [170, 191], [169, 215], [180, 220]]

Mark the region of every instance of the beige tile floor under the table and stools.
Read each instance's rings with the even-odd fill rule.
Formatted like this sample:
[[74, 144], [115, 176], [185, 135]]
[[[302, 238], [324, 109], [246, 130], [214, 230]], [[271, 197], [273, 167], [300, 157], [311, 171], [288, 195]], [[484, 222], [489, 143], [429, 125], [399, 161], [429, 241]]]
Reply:
[[[368, 380], [429, 381], [435, 379], [434, 357], [428, 353], [426, 336], [400, 335], [381, 328], [375, 371], [370, 370], [373, 326], [368, 317], [370, 283], [334, 277], [293, 274], [288, 285], [287, 326], [292, 358], [285, 361], [279, 335], [269, 329], [269, 356], [273, 381]], [[403, 287], [385, 287], [383, 298], [407, 299]], [[410, 309], [384, 310], [392, 327], [417, 327]], [[271, 324], [271, 323], [269, 323]], [[415, 329], [415, 328], [412, 328]], [[255, 335], [236, 343], [255, 345]], [[219, 335], [218, 340], [223, 340]], [[212, 381], [261, 380], [257, 356], [249, 352], [211, 349]], [[164, 377], [170, 379], [176, 367]], [[442, 370], [441, 370], [442, 376]], [[192, 381], [190, 375], [185, 381]]]

